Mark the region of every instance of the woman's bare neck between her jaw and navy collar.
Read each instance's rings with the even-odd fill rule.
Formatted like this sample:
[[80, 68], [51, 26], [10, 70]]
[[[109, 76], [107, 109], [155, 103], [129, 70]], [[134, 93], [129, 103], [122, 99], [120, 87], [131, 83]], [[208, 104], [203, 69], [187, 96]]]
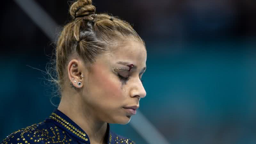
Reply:
[[81, 96], [78, 94], [62, 95], [58, 110], [80, 126], [88, 135], [91, 143], [106, 143], [107, 123], [96, 118], [95, 112], [83, 103]]

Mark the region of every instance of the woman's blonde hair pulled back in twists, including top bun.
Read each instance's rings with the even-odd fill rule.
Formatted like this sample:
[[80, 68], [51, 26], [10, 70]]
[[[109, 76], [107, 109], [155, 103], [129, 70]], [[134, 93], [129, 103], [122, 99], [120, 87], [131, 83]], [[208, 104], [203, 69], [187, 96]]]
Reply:
[[112, 52], [113, 43], [132, 38], [144, 44], [132, 26], [107, 13], [95, 14], [92, 0], [78, 0], [70, 6], [72, 21], [66, 24], [56, 43], [57, 87], [62, 92], [65, 69], [72, 55], [77, 55], [85, 64], [93, 64], [97, 56]]

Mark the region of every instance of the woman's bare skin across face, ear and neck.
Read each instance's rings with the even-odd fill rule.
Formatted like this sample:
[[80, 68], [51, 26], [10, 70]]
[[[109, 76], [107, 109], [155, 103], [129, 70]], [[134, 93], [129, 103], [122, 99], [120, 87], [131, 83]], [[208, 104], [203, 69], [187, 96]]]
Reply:
[[[91, 143], [103, 143], [107, 123], [129, 123], [132, 114], [124, 107], [139, 106], [140, 98], [146, 96], [141, 83], [146, 60], [144, 45], [132, 40], [123, 42], [115, 52], [100, 55], [90, 68], [75, 57], [68, 63], [68, 84], [58, 109], [88, 134]], [[120, 76], [129, 78], [123, 80]]]

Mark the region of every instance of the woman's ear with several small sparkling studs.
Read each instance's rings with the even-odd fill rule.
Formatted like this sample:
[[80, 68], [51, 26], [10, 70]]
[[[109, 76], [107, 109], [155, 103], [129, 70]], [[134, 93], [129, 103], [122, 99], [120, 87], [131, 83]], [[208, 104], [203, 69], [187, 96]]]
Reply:
[[[68, 63], [68, 78], [76, 88], [82, 88], [84, 84], [84, 77], [82, 77], [84, 65], [80, 60], [70, 60]], [[84, 75], [85, 76], [85, 75]], [[78, 85], [81, 82], [81, 85]]]

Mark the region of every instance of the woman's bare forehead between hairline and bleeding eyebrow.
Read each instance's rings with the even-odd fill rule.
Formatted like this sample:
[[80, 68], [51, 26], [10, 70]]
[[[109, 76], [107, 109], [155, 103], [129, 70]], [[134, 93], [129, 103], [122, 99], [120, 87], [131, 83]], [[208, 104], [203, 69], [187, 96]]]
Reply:
[[111, 59], [115, 61], [130, 61], [137, 65], [146, 65], [147, 51], [143, 43], [129, 40], [120, 43], [114, 49], [113, 52], [109, 53]]

